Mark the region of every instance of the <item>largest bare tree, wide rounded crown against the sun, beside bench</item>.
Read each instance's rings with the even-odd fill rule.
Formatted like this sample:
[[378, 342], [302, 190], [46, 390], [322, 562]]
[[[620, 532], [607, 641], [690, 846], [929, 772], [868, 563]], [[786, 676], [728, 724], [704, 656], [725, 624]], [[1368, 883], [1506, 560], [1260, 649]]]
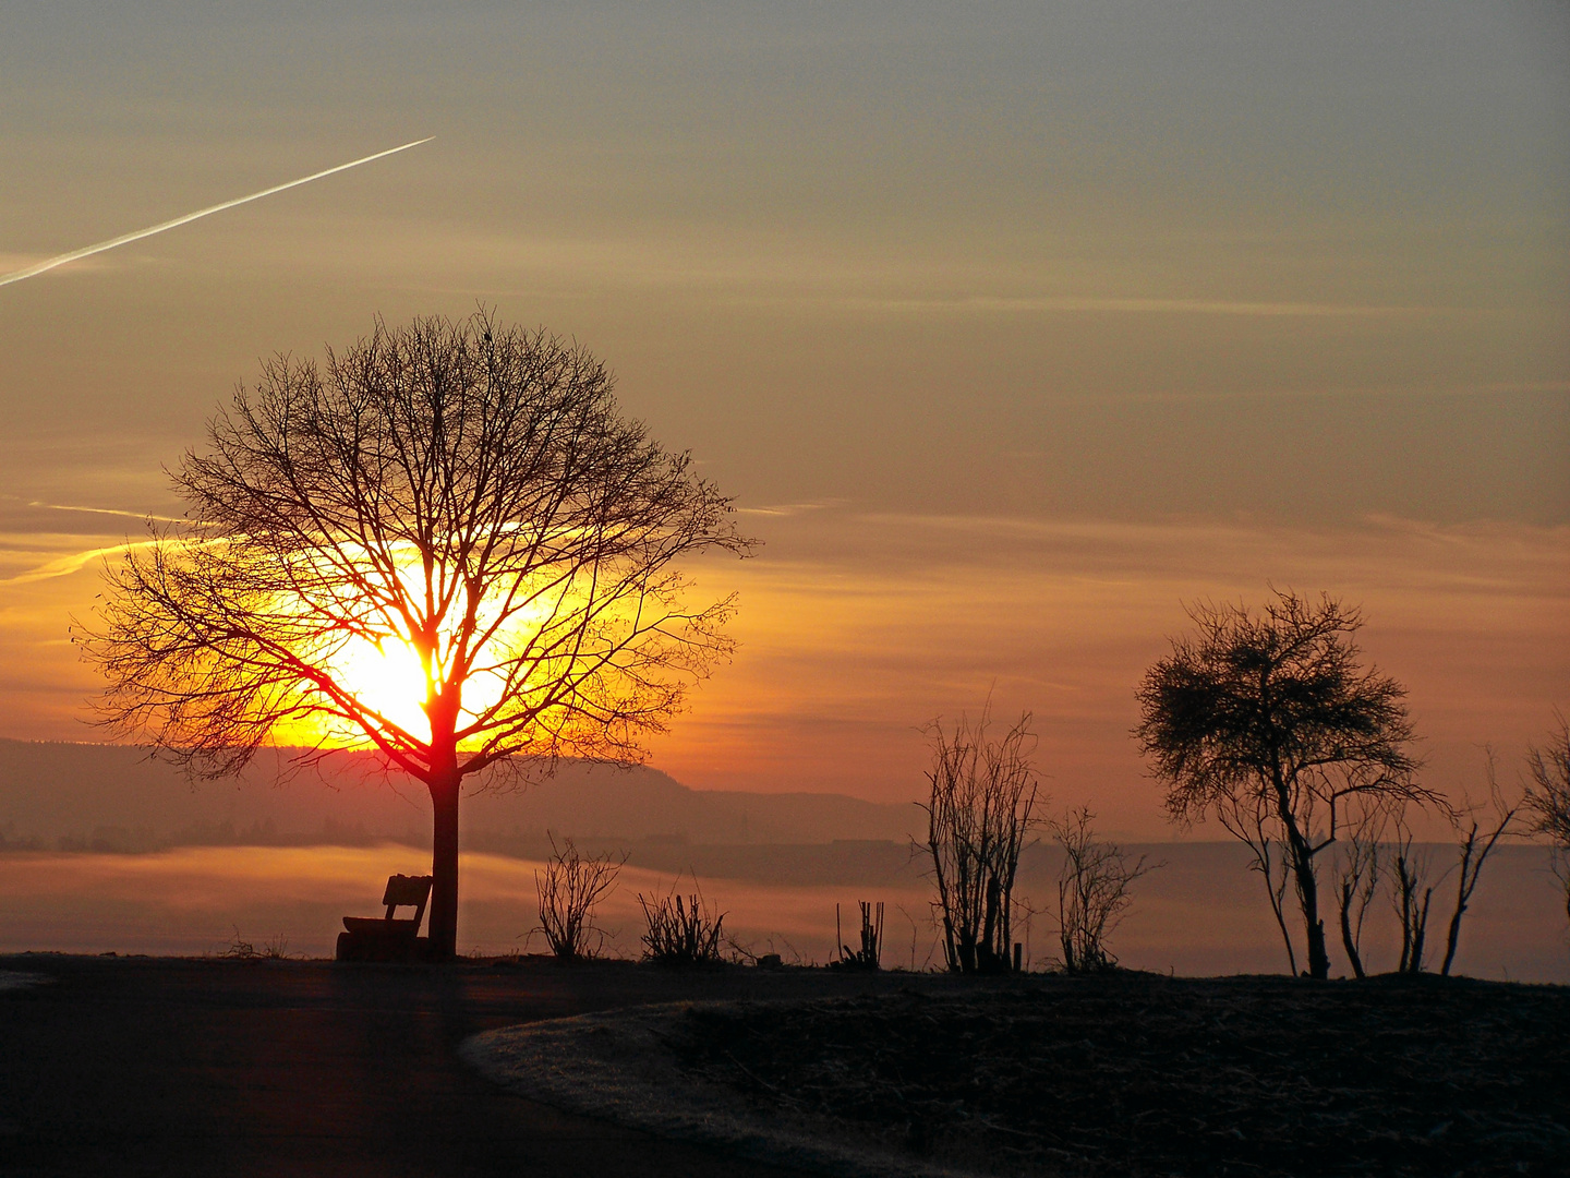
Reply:
[[[303, 738], [422, 782], [438, 957], [462, 782], [641, 760], [732, 650], [733, 602], [688, 605], [678, 572], [747, 551], [730, 501], [619, 415], [592, 355], [485, 313], [267, 363], [173, 482], [187, 521], [127, 547], [85, 636], [104, 721], [198, 776]], [[372, 690], [367, 652], [410, 655], [418, 707]]]

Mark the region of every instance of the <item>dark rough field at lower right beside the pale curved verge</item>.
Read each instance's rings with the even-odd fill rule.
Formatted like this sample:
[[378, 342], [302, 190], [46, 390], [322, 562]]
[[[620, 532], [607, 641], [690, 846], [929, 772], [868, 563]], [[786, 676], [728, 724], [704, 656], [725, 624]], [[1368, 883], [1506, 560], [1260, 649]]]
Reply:
[[992, 1173], [1567, 1175], [1570, 988], [1047, 979], [699, 1007], [765, 1115]]

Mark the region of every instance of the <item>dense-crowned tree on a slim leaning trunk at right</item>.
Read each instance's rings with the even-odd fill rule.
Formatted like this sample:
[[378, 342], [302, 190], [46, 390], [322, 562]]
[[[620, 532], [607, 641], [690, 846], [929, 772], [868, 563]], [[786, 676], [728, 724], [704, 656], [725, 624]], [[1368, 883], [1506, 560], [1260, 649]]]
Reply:
[[1196, 605], [1188, 616], [1199, 635], [1174, 639], [1171, 657], [1146, 672], [1135, 735], [1168, 785], [1174, 821], [1215, 814], [1250, 845], [1280, 848], [1308, 972], [1328, 977], [1314, 858], [1334, 843], [1345, 799], [1444, 806], [1416, 782], [1405, 688], [1363, 669], [1361, 616], [1328, 594], [1313, 603], [1276, 592], [1259, 614]]

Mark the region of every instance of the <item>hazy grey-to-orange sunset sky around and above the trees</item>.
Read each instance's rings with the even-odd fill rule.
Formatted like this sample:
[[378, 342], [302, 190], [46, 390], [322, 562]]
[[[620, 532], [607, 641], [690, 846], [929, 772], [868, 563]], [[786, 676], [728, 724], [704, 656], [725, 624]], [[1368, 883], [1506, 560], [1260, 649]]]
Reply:
[[477, 305], [736, 498], [736, 660], [653, 763], [918, 796], [1033, 712], [1168, 831], [1196, 600], [1360, 603], [1429, 779], [1570, 708], [1570, 9], [0, 3], [0, 735], [104, 740], [96, 559], [264, 357]]

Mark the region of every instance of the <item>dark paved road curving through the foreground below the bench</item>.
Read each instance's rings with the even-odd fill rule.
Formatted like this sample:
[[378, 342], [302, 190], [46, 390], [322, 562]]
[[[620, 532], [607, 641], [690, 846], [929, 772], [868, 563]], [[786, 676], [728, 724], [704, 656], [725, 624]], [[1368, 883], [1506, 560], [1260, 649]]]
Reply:
[[469, 1071], [479, 1030], [637, 1002], [889, 985], [823, 972], [0, 957], [0, 1175], [787, 1175]]

